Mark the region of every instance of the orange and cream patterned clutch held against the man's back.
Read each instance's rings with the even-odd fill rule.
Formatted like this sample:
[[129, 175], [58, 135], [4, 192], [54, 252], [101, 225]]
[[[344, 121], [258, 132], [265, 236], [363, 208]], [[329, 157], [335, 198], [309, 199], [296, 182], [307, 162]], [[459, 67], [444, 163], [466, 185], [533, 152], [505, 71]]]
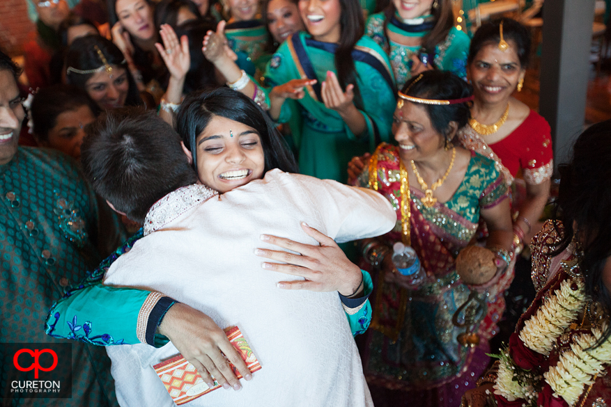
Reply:
[[[248, 342], [242, 336], [240, 328], [233, 326], [232, 328], [227, 328], [225, 333], [229, 342], [242, 355], [242, 359], [246, 362], [250, 372], [260, 370], [261, 363], [252, 353], [252, 349], [250, 349]], [[231, 365], [231, 363], [230, 366], [235, 377], [242, 378], [242, 374], [238, 372], [238, 369]], [[208, 387], [203, 378], [199, 376], [197, 369], [183, 358], [182, 355], [174, 356], [171, 359], [158, 363], [153, 368], [155, 368], [155, 372], [157, 372], [157, 375], [166, 386], [166, 390], [169, 392], [174, 403], [178, 406], [221, 387], [217, 381], [214, 382], [214, 387]]]

